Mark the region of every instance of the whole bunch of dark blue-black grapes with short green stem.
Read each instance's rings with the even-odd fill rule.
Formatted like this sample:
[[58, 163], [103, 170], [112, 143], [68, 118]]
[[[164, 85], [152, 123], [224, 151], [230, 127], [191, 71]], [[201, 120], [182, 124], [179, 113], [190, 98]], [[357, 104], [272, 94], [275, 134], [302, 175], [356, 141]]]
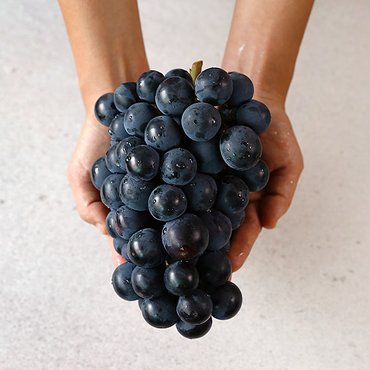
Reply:
[[106, 227], [126, 262], [115, 292], [138, 300], [157, 328], [176, 324], [187, 338], [212, 317], [237, 314], [242, 294], [230, 280], [230, 238], [249, 193], [269, 178], [259, 134], [270, 112], [253, 100], [251, 80], [220, 68], [154, 70], [101, 96], [96, 118], [111, 147], [91, 179], [110, 209]]

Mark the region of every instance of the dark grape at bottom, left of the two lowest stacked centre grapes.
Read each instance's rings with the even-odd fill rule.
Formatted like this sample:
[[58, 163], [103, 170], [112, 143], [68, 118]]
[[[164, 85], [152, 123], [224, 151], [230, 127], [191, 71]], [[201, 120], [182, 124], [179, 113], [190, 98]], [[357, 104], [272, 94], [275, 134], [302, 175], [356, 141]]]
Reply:
[[176, 313], [177, 297], [167, 294], [156, 298], [144, 299], [141, 313], [144, 320], [155, 328], [163, 329], [175, 325], [179, 320]]

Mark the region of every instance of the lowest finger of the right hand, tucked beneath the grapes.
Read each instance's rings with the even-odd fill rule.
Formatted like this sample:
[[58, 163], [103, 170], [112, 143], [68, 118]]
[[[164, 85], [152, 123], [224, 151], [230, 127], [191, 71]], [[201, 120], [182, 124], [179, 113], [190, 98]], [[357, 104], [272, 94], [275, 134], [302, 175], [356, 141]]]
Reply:
[[251, 202], [245, 213], [244, 223], [233, 233], [229, 257], [233, 271], [237, 271], [247, 259], [262, 226], [258, 218], [257, 202]]

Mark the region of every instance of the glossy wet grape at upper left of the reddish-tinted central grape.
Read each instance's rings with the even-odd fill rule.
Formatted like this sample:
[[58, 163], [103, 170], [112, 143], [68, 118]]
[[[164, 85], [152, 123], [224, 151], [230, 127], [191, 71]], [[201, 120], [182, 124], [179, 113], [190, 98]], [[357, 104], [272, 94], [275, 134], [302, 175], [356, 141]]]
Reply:
[[162, 184], [157, 186], [149, 196], [150, 214], [159, 221], [171, 221], [181, 216], [187, 207], [184, 192], [176, 186]]

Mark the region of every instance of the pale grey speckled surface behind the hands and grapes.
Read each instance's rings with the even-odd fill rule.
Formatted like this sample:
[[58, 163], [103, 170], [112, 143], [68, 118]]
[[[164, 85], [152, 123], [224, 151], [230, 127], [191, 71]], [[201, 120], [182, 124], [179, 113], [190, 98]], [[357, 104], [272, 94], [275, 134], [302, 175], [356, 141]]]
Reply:
[[[152, 67], [221, 63], [231, 1], [141, 8]], [[368, 1], [314, 8], [288, 101], [302, 181], [234, 276], [240, 314], [199, 341], [113, 293], [105, 240], [75, 211], [65, 171], [83, 112], [56, 4], [2, 0], [0, 17], [1, 370], [370, 368]]]

